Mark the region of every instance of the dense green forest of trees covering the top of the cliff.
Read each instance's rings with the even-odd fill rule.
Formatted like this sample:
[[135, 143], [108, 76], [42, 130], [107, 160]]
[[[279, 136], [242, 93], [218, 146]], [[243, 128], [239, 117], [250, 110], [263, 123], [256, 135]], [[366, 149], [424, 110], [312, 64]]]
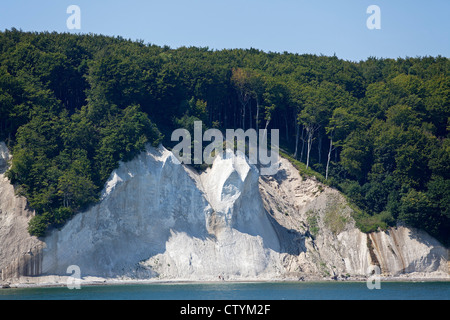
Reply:
[[449, 244], [450, 63], [171, 49], [101, 35], [0, 33], [7, 172], [43, 235], [99, 198], [118, 161], [171, 132], [277, 128], [282, 148], [359, 208], [363, 231], [419, 227]]

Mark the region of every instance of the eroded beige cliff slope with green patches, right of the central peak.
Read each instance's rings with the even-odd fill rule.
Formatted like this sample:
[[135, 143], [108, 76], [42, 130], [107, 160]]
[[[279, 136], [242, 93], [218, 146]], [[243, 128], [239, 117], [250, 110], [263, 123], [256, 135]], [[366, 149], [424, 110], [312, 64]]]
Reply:
[[301, 177], [286, 159], [280, 159], [276, 175], [260, 179], [260, 191], [274, 219], [302, 235], [301, 250], [288, 257], [285, 272], [365, 277], [378, 266], [387, 277], [450, 278], [448, 250], [436, 239], [401, 224], [362, 233], [342, 194]]

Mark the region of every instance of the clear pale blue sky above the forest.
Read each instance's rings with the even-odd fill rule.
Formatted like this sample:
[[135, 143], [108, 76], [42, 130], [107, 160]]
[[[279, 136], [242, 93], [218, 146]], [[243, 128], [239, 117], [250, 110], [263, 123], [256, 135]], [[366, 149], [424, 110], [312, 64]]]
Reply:
[[[69, 5], [81, 29], [69, 30]], [[381, 29], [369, 30], [378, 5]], [[450, 57], [449, 0], [14, 0], [0, 3], [0, 30], [122, 36], [145, 43], [211, 49], [333, 55], [359, 61]]]

